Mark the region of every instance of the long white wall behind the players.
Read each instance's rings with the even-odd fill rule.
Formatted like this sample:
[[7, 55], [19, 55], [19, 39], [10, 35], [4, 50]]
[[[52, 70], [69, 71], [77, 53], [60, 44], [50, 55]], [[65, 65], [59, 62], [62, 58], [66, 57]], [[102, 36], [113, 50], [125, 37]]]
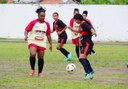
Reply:
[[[73, 16], [74, 8], [88, 10], [88, 18], [92, 21], [98, 36], [94, 41], [128, 41], [128, 5], [41, 5], [46, 8], [46, 21], [51, 24], [52, 13], [60, 14], [67, 25]], [[0, 4], [0, 37], [23, 38], [26, 25], [37, 18], [35, 10], [38, 5], [32, 4]], [[68, 31], [71, 39], [70, 31]], [[56, 33], [52, 34], [57, 39]]]

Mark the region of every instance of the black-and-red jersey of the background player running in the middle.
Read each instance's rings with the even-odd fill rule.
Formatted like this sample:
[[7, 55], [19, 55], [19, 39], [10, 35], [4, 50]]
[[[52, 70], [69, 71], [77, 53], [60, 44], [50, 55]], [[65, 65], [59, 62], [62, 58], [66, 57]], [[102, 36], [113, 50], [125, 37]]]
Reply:
[[[66, 24], [64, 24], [60, 19], [58, 21], [53, 22], [53, 30], [55, 31], [61, 31], [66, 27]], [[67, 33], [64, 31], [62, 34], [58, 35], [59, 38], [67, 38]]]

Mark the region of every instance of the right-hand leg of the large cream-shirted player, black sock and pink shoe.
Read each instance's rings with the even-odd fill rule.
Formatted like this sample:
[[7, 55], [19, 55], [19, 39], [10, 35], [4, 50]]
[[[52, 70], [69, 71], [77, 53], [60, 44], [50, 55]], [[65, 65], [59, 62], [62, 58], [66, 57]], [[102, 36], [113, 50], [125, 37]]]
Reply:
[[44, 67], [44, 52], [42, 50], [38, 51], [38, 76], [42, 77], [42, 71]]

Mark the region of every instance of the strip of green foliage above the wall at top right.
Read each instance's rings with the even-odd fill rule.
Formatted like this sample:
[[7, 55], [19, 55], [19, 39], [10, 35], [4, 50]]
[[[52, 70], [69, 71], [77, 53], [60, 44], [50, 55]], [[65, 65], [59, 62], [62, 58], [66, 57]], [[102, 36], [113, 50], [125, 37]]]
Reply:
[[80, 0], [81, 4], [128, 4], [128, 0]]

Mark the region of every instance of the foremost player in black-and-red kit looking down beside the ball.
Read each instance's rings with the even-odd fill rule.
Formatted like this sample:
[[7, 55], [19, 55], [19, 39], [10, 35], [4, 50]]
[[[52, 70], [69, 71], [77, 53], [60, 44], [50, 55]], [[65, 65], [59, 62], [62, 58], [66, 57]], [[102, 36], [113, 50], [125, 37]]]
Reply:
[[84, 21], [83, 16], [81, 14], [76, 14], [74, 16], [74, 20], [76, 23], [80, 24], [80, 29], [78, 31], [73, 30], [72, 28], [70, 29], [71, 31], [78, 32], [81, 35], [80, 39], [82, 46], [80, 47], [81, 52], [79, 56], [79, 61], [86, 72], [84, 79], [88, 80], [92, 77], [94, 69], [91, 67], [90, 62], [87, 59], [87, 56], [91, 54], [91, 50], [93, 48], [91, 36], [96, 35], [96, 32], [87, 22]]

